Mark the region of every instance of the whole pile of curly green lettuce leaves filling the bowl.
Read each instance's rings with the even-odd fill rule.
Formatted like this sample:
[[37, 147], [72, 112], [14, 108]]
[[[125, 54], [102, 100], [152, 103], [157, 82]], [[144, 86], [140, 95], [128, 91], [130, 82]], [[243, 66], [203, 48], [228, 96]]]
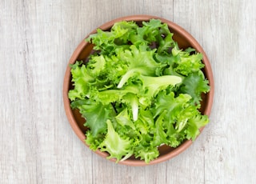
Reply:
[[86, 39], [94, 44], [87, 61], [71, 65], [71, 107], [86, 118], [86, 144], [117, 162], [132, 155], [146, 163], [158, 146], [194, 140], [208, 117], [199, 112], [210, 90], [202, 54], [181, 50], [158, 19], [118, 22]]

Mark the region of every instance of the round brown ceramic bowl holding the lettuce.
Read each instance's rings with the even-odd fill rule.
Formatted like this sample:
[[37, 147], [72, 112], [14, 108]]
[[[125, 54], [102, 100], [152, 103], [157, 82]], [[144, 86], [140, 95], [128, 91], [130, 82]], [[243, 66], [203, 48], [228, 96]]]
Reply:
[[[128, 16], [128, 17], [123, 17], [123, 18], [117, 18], [114, 19], [113, 21], [106, 22], [99, 28], [102, 30], [109, 30], [111, 26], [115, 22], [120, 22], [122, 20], [126, 21], [134, 21], [134, 22], [142, 22], [142, 21], [148, 21], [151, 18], [158, 18], [155, 16], [149, 16], [149, 15], [134, 15], [134, 16]], [[198, 42], [188, 33], [186, 30], [182, 29], [182, 27], [176, 25], [174, 22], [170, 22], [166, 19], [163, 18], [158, 18], [162, 22], [167, 23], [167, 25], [170, 28], [170, 32], [174, 33], [174, 40], [178, 42], [178, 46], [180, 48], [186, 48], [186, 47], [193, 47], [195, 50], [203, 54], [203, 60], [202, 62], [205, 64], [205, 68], [203, 69], [203, 72], [206, 76], [206, 78], [209, 80], [210, 84], [210, 92], [208, 94], [202, 94], [202, 108], [200, 111], [202, 114], [210, 115], [210, 110], [211, 106], [213, 104], [213, 98], [214, 98], [214, 78], [210, 66], [210, 62], [206, 56], [206, 53], [204, 50], [202, 50], [202, 47], [198, 44]], [[95, 33], [96, 30], [92, 31], [90, 34]], [[86, 37], [87, 38], [87, 37]], [[66, 116], [70, 122], [70, 126], [73, 128], [75, 134], [78, 135], [78, 138], [82, 142], [85, 143], [85, 133], [87, 128], [83, 126], [84, 122], [86, 121], [84, 118], [81, 117], [81, 114], [79, 114], [78, 110], [72, 110], [70, 108], [70, 100], [68, 98], [68, 91], [71, 89], [72, 84], [71, 84], [71, 74], [70, 74], [70, 66], [69, 64], [74, 64], [77, 60], [85, 60], [87, 56], [90, 54], [90, 51], [93, 49], [93, 45], [85, 42], [82, 40], [82, 42], [78, 45], [76, 50], [74, 50], [74, 54], [70, 58], [70, 62], [68, 63], [68, 66], [66, 67], [66, 74], [64, 78], [64, 85], [63, 85], [63, 100], [64, 100], [64, 106], [66, 110]], [[201, 128], [202, 131], [203, 128]], [[174, 158], [174, 156], [182, 153], [182, 151], [186, 150], [193, 142], [190, 140], [186, 140], [182, 142], [180, 146], [177, 148], [171, 148], [170, 146], [160, 146], [158, 148], [159, 150], [159, 157], [155, 159], [154, 161], [151, 161], [149, 164], [146, 164], [146, 162], [136, 159], [136, 158], [129, 158], [125, 161], [118, 162], [120, 164], [125, 164], [125, 165], [130, 165], [130, 166], [146, 166], [146, 165], [151, 165], [151, 164], [156, 164], [159, 162], [164, 162], [170, 158]], [[85, 143], [86, 145], [86, 143]], [[88, 145], [86, 145], [88, 146]], [[106, 158], [108, 156], [108, 153], [102, 152], [100, 150], [95, 151], [96, 154], [99, 154], [103, 158]], [[110, 161], [115, 162], [115, 159], [112, 158]]]

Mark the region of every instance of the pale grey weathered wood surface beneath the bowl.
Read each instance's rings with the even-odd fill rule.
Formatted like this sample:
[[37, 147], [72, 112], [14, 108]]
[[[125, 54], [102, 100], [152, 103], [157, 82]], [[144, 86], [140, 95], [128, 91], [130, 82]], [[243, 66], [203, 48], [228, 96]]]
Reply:
[[[254, 0], [1, 0], [0, 183], [255, 183]], [[214, 71], [210, 124], [178, 157], [131, 167], [92, 153], [62, 103], [67, 62], [102, 23], [169, 19], [202, 45]]]

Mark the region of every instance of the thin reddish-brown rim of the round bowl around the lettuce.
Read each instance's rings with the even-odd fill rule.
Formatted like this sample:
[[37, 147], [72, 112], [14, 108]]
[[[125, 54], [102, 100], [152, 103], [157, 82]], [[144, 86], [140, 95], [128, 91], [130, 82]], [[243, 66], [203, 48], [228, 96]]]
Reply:
[[[210, 111], [211, 111], [211, 108], [213, 105], [213, 99], [214, 99], [214, 76], [213, 76], [213, 72], [212, 72], [212, 69], [210, 66], [210, 61], [207, 58], [205, 51], [202, 49], [202, 46], [200, 46], [198, 41], [190, 33], [188, 33], [186, 30], [184, 30], [181, 26], [178, 26], [178, 24], [176, 24], [170, 20], [167, 20], [165, 18], [160, 18], [157, 16], [152, 16], [152, 15], [147, 15], [147, 14], [138, 14], [138, 15], [125, 16], [125, 17], [121, 17], [121, 18], [115, 18], [115, 19], [111, 20], [110, 22], [106, 22], [106, 23], [102, 24], [102, 26], [98, 26], [98, 28], [91, 31], [90, 34], [94, 34], [97, 29], [108, 30], [108, 29], [110, 29], [111, 26], [113, 26], [113, 24], [115, 22], [120, 22], [123, 20], [141, 22], [141, 21], [149, 21], [152, 18], [159, 19], [162, 22], [166, 23], [172, 30], [175, 30], [175, 32], [178, 32], [178, 34], [181, 34], [183, 37], [185, 37], [186, 40], [188, 42], [190, 42], [190, 45], [194, 49], [196, 49], [198, 52], [202, 53], [202, 55], [203, 55], [202, 62], [205, 65], [205, 67], [204, 67], [205, 75], [206, 75], [206, 78], [209, 80], [209, 86], [210, 86], [210, 92], [207, 93], [206, 107], [202, 114], [206, 114], [210, 117]], [[85, 38], [87, 38], [90, 34], [87, 34]], [[70, 126], [72, 127], [72, 129], [74, 130], [74, 133], [78, 136], [78, 138], [87, 147], [89, 147], [86, 144], [86, 142], [84, 141], [86, 138], [85, 134], [82, 133], [82, 130], [80, 130], [80, 128], [74, 118], [73, 111], [71, 110], [71, 107], [70, 107], [70, 99], [68, 98], [68, 91], [70, 89], [70, 78], [71, 78], [69, 65], [74, 64], [74, 62], [77, 60], [81, 51], [89, 44], [88, 42], [85, 41], [85, 38], [82, 40], [82, 42], [79, 43], [77, 48], [74, 50], [74, 53], [70, 57], [70, 60], [66, 67], [65, 76], [64, 76], [62, 94], [63, 94], [63, 102], [64, 102], [64, 108], [65, 108], [65, 112], [66, 112], [66, 117], [68, 118], [68, 121], [70, 122]], [[204, 127], [202, 127], [200, 129], [200, 134], [203, 129], [204, 129]], [[174, 151], [171, 151], [168, 154], [160, 155], [158, 158], [154, 159], [150, 163], [146, 163], [143, 160], [126, 159], [125, 161], [118, 162], [118, 164], [128, 165], [128, 166], [149, 166], [149, 165], [157, 164], [160, 162], [165, 162], [165, 161], [169, 160], [170, 158], [174, 158], [178, 154], [181, 154], [184, 150], [186, 150], [189, 146], [191, 146], [192, 143], [193, 142], [191, 140], [186, 140], [180, 146], [176, 147]], [[94, 151], [94, 153], [102, 156], [103, 158], [106, 158], [109, 155], [106, 152], [102, 152], [100, 150], [96, 150], [96, 151]], [[112, 162], [116, 162], [115, 158], [110, 158], [109, 160]]]

